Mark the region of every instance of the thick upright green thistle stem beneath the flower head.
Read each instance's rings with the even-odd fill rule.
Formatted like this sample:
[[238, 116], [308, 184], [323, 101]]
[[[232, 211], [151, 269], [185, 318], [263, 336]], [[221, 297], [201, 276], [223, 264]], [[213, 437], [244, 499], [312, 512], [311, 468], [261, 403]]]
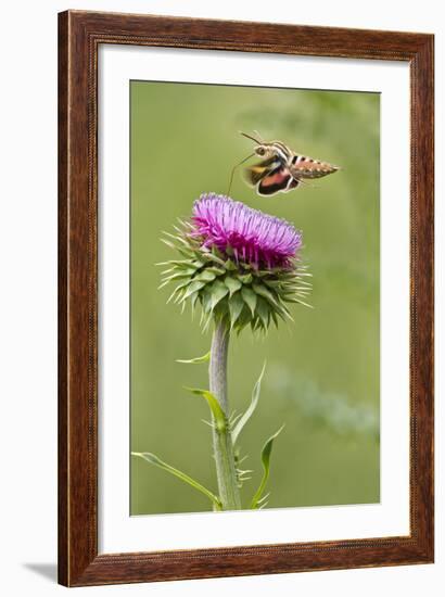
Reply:
[[[226, 420], [229, 417], [227, 398], [227, 356], [230, 332], [224, 320], [215, 322], [208, 368], [211, 392], [217, 398]], [[240, 510], [241, 497], [234, 466], [233, 444], [229, 425], [213, 429], [213, 446], [218, 480], [219, 499], [224, 510]]]

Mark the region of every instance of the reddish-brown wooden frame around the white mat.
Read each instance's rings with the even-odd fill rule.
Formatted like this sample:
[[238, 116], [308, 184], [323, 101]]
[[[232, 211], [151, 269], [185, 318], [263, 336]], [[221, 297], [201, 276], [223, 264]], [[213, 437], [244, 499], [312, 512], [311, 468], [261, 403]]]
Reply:
[[[97, 80], [100, 43], [409, 63], [409, 536], [98, 554]], [[423, 34], [80, 11], [59, 15], [60, 583], [81, 586], [433, 561], [433, 36]]]

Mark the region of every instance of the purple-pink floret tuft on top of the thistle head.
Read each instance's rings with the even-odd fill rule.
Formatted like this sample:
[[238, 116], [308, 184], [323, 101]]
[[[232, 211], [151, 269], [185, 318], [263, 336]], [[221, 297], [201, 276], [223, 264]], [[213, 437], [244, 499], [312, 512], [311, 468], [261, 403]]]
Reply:
[[203, 246], [216, 246], [255, 268], [290, 266], [302, 246], [301, 232], [287, 220], [214, 193], [194, 202], [192, 221], [192, 234], [203, 239]]

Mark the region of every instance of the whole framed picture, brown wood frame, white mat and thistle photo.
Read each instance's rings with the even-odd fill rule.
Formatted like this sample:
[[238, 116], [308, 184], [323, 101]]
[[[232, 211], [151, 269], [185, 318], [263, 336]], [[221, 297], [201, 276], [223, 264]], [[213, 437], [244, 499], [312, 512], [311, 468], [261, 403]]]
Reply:
[[433, 561], [433, 36], [59, 15], [59, 580]]

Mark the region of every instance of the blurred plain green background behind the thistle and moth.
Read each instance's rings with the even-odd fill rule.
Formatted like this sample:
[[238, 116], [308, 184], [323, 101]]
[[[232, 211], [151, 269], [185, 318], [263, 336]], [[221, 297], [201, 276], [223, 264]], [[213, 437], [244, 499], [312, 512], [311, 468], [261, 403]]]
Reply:
[[[231, 167], [258, 130], [343, 169], [288, 194], [259, 198], [238, 174], [231, 195], [303, 231], [314, 309], [267, 338], [233, 338], [229, 398], [246, 408], [267, 360], [259, 405], [241, 437], [262, 473], [265, 440], [283, 422], [271, 457], [269, 508], [376, 503], [379, 445], [379, 131], [377, 93], [131, 81], [131, 449], [153, 452], [216, 491], [207, 405], [183, 390], [207, 386], [199, 318], [166, 305], [156, 262], [174, 258], [160, 237], [200, 193], [227, 192]], [[209, 509], [204, 496], [131, 459], [131, 515]]]

